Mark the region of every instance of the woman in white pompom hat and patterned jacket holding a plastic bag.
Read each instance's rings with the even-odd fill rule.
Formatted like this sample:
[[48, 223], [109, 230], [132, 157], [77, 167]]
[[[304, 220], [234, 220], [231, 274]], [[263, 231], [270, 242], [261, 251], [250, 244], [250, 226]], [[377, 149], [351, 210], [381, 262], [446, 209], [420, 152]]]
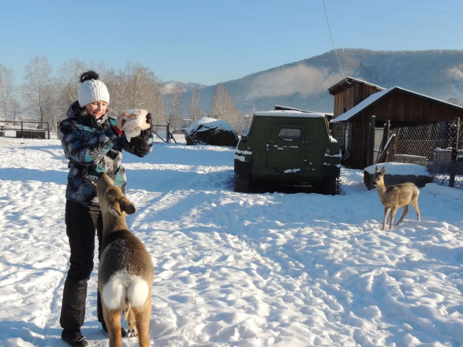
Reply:
[[[98, 80], [95, 71], [84, 72], [78, 89], [78, 101], [69, 106], [58, 134], [69, 160], [66, 187], [65, 223], [69, 238], [69, 271], [64, 282], [60, 324], [61, 338], [72, 346], [86, 346], [80, 332], [85, 317], [87, 281], [93, 270], [95, 230], [98, 251], [101, 249], [102, 219], [96, 193], [98, 175], [106, 172], [116, 186], [125, 192], [126, 173], [121, 165], [122, 150], [143, 157], [151, 152], [151, 115], [147, 115], [150, 129], [127, 140], [123, 134], [124, 115], [117, 120], [106, 116], [110, 101], [108, 88]], [[127, 116], [127, 115], [126, 115]], [[100, 294], [97, 297], [98, 321], [108, 331], [103, 320]], [[125, 331], [121, 331], [122, 336]]]

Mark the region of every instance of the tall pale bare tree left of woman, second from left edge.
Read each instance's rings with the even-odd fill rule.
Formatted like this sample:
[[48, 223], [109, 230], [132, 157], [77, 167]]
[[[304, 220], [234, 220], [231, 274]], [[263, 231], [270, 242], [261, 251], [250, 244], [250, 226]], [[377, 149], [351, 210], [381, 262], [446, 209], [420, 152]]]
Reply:
[[50, 95], [51, 66], [45, 56], [34, 56], [24, 68], [26, 83], [23, 85], [23, 97], [28, 111], [38, 116], [41, 121], [47, 120], [46, 94]]

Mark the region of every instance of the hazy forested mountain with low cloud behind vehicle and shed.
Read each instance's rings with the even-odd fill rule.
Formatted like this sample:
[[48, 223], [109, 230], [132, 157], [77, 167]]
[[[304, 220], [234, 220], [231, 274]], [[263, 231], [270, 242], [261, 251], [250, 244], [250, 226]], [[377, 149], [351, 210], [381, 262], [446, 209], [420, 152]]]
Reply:
[[[400, 86], [437, 99], [463, 100], [463, 50], [373, 51], [338, 49], [346, 76], [384, 88]], [[224, 82], [240, 111], [273, 109], [276, 104], [333, 112], [327, 88], [343, 79], [334, 50], [309, 59]], [[215, 85], [202, 87], [201, 102], [210, 109]], [[190, 92], [184, 94], [188, 104]]]

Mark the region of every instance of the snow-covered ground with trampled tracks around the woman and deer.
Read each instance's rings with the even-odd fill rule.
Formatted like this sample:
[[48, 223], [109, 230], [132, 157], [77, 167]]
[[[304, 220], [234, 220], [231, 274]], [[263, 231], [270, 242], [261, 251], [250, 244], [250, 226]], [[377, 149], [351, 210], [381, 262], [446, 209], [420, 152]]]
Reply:
[[[128, 224], [155, 266], [152, 346], [463, 345], [463, 190], [427, 185], [422, 221], [381, 231], [363, 171], [342, 169], [339, 196], [240, 194], [234, 154], [123, 154]], [[66, 175], [59, 140], [0, 138], [1, 346], [65, 345]], [[82, 332], [104, 346], [95, 263]]]

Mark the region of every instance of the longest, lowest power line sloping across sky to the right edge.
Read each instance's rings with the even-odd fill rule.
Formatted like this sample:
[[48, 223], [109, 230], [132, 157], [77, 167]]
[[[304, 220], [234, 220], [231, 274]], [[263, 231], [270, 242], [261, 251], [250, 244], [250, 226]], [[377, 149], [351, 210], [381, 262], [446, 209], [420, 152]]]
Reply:
[[[175, 12], [185, 12], [185, 13], [193, 13], [193, 14], [204, 14], [216, 17], [225, 17], [230, 19], [239, 19], [243, 21], [251, 21], [251, 22], [263, 22], [263, 23], [272, 23], [272, 24], [282, 24], [282, 25], [291, 25], [297, 27], [306, 27], [306, 28], [318, 28], [324, 29], [322, 26], [318, 25], [310, 25], [310, 24], [298, 24], [298, 23], [289, 23], [289, 22], [279, 22], [279, 21], [270, 21], [270, 20], [262, 20], [256, 18], [247, 18], [247, 17], [240, 17], [240, 16], [233, 16], [233, 15], [226, 15], [226, 14], [218, 14], [218, 13], [208, 13], [208, 12], [200, 12], [200, 11], [191, 11], [191, 10], [184, 10], [184, 9], [176, 9], [176, 8], [169, 8], [169, 7], [161, 7], [161, 6], [153, 6], [153, 5], [144, 5], [144, 4], [133, 4], [133, 3], [126, 3], [117, 0], [101, 0], [108, 3], [114, 4], [121, 4], [121, 5], [128, 5], [128, 6], [138, 6], [138, 7], [147, 7], [147, 8], [155, 8], [159, 10], [167, 10], [167, 11], [175, 11]], [[332, 0], [330, 0], [332, 1]], [[407, 38], [407, 39], [417, 39], [417, 40], [430, 40], [430, 41], [445, 41], [445, 42], [456, 42], [456, 43], [463, 43], [461, 40], [450, 40], [450, 39], [434, 39], [434, 38], [425, 38], [420, 36], [410, 36], [410, 35], [399, 35], [399, 34], [389, 34], [383, 32], [373, 32], [373, 31], [364, 31], [364, 30], [352, 30], [352, 29], [344, 29], [344, 28], [333, 28], [333, 30], [337, 31], [347, 31], [347, 32], [357, 32], [357, 33], [364, 33], [364, 34], [372, 34], [372, 35], [383, 35], [383, 36], [394, 36], [398, 38]]]

